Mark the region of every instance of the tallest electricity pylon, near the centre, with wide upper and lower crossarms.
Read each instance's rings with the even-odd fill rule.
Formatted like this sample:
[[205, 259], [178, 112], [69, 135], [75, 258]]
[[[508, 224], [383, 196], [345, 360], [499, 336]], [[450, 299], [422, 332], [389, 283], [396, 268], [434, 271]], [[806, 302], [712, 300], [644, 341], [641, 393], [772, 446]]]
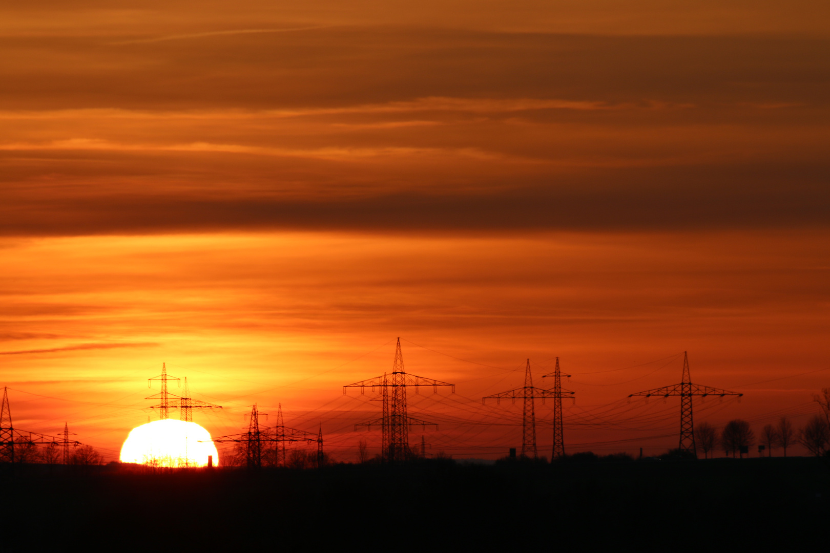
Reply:
[[369, 422], [355, 424], [371, 429], [372, 426], [380, 426], [383, 434], [383, 446], [381, 454], [387, 463], [405, 461], [410, 458], [412, 452], [409, 450], [409, 427], [414, 425], [438, 427], [437, 424], [428, 423], [424, 420], [413, 419], [407, 415], [407, 388], [415, 388], [417, 394], [421, 386], [432, 386], [432, 393], [437, 393], [438, 386], [452, 386], [452, 393], [456, 391], [456, 385], [448, 382], [432, 380], [423, 376], [408, 375], [403, 371], [403, 352], [401, 352], [401, 339], [398, 338], [398, 345], [395, 347], [395, 361], [392, 366], [392, 375], [385, 372], [383, 376], [376, 376], [366, 381], [355, 382], [343, 386], [343, 395], [346, 388], [360, 388], [360, 395], [364, 395], [366, 388], [380, 389], [379, 400], [382, 403], [383, 416], [380, 419], [369, 420]]

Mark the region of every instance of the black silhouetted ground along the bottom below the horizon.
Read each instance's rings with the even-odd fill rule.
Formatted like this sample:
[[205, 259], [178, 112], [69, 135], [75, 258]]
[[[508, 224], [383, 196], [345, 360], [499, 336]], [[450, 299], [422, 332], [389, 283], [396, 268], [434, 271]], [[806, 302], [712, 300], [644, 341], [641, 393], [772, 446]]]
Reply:
[[800, 549], [824, 548], [830, 525], [830, 469], [816, 458], [2, 468], [0, 551]]

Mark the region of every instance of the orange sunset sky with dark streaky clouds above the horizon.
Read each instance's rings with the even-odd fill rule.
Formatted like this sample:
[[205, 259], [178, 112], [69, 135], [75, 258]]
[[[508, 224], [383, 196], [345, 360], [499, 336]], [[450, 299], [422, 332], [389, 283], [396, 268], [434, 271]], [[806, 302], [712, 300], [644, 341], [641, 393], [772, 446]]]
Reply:
[[[830, 3], [0, 7], [0, 385], [118, 456], [162, 363], [214, 436], [256, 402], [356, 460], [390, 371], [432, 453], [521, 446], [484, 395], [573, 375], [565, 448], [660, 454], [830, 386]], [[174, 388], [174, 393], [181, 390]], [[536, 406], [550, 454], [550, 405]], [[178, 417], [178, 411], [172, 416]], [[797, 450], [797, 452], [800, 450]], [[780, 452], [776, 452], [777, 454]], [[722, 453], [719, 453], [722, 455]]]

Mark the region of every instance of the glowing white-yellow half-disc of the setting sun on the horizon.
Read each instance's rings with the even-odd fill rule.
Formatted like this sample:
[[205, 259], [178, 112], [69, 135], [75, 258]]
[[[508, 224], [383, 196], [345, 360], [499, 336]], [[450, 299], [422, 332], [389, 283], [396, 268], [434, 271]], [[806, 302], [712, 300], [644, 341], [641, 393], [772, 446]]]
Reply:
[[130, 430], [121, 446], [121, 463], [152, 464], [159, 467], [205, 467], [207, 456], [214, 466], [219, 455], [210, 433], [196, 423], [183, 420], [154, 420]]

